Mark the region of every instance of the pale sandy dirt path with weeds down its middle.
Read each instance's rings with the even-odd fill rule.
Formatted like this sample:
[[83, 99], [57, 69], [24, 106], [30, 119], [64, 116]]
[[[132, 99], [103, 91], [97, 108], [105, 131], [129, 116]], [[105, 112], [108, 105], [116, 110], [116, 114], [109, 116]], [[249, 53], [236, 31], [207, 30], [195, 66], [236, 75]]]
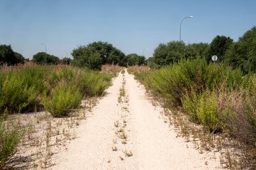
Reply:
[[[122, 91], [124, 89], [125, 91]], [[160, 107], [126, 71], [77, 131], [51, 169], [218, 169], [218, 158], [198, 153], [160, 118]], [[125, 92], [121, 94], [120, 92]]]

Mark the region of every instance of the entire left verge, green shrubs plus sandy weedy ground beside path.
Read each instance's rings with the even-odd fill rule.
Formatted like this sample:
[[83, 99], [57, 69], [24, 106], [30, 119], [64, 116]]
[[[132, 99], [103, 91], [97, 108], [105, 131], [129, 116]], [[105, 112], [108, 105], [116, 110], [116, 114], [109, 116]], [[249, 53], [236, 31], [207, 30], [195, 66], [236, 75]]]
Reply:
[[[75, 127], [104, 95], [108, 73], [70, 67], [17, 65], [0, 71], [0, 168], [41, 169], [75, 139]], [[121, 68], [119, 69], [121, 70]], [[82, 104], [81, 104], [82, 103]]]

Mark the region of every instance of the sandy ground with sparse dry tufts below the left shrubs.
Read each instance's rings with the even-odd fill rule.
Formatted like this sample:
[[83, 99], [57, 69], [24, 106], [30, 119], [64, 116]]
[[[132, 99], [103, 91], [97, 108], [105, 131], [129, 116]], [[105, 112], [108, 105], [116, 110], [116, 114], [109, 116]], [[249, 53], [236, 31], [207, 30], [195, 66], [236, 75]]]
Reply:
[[[12, 124], [27, 129], [18, 152], [7, 162], [6, 169], [45, 169], [54, 163], [52, 156], [64, 150], [77, 137], [75, 129], [84, 123], [87, 112], [96, 105], [96, 98], [83, 100], [82, 110], [74, 110], [67, 118], [54, 118], [47, 112], [9, 115]], [[86, 103], [86, 104], [85, 104]]]

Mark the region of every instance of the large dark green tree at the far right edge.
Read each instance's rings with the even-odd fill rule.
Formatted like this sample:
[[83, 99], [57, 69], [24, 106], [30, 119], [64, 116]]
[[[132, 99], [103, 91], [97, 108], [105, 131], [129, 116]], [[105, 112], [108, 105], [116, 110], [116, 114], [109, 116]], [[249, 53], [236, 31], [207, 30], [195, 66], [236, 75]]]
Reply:
[[224, 55], [224, 62], [241, 67], [245, 73], [256, 72], [256, 26], [246, 31]]

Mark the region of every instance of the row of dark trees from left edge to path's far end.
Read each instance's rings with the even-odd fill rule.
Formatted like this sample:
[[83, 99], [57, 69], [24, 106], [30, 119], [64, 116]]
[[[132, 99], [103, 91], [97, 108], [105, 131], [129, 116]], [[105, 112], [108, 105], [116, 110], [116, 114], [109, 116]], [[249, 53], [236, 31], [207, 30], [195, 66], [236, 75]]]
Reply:
[[[45, 52], [33, 55], [32, 62], [38, 65], [72, 64], [78, 67], [88, 67], [92, 70], [100, 70], [101, 65], [114, 64], [126, 67], [127, 65], [144, 65], [146, 58], [142, 55], [129, 54], [114, 47], [108, 42], [92, 42], [87, 46], [79, 46], [72, 51], [73, 60], [70, 58], [59, 59], [59, 57]], [[0, 45], [0, 63], [15, 65], [28, 61], [21, 54], [12, 51], [11, 45]]]

